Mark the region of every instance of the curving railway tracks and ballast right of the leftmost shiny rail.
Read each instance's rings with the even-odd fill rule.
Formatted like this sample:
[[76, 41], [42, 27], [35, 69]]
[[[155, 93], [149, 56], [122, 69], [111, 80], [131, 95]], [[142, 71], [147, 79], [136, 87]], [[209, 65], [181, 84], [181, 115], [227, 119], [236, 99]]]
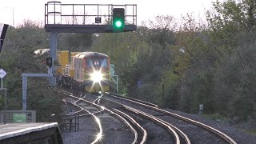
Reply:
[[[75, 95], [70, 94], [70, 98], [73, 100], [66, 98], [70, 99], [70, 103], [73, 103], [74, 106], [96, 106], [99, 110], [94, 114], [104, 115], [108, 113], [109, 117], [115, 117], [119, 122], [123, 122], [122, 126], [129, 127], [129, 131], [125, 133], [129, 135], [128, 139], [130, 141], [127, 142], [126, 138], [124, 143], [236, 143], [228, 135], [213, 127], [167, 110], [162, 110], [157, 105], [149, 102], [131, 100], [117, 94], [102, 94], [101, 96], [86, 94], [82, 97], [79, 94]], [[74, 113], [81, 112], [82, 109], [79, 107]], [[106, 124], [104, 124], [104, 120], [101, 122], [102, 129], [104, 129]], [[118, 134], [122, 135], [122, 128], [116, 130], [120, 130]], [[106, 133], [108, 133], [107, 130]], [[118, 138], [116, 134], [109, 136]], [[102, 143], [105, 143], [106, 139], [110, 139], [106, 138], [106, 135], [108, 134], [104, 134], [103, 130]], [[120, 142], [123, 143], [123, 141]], [[120, 142], [114, 141], [110, 143]]]

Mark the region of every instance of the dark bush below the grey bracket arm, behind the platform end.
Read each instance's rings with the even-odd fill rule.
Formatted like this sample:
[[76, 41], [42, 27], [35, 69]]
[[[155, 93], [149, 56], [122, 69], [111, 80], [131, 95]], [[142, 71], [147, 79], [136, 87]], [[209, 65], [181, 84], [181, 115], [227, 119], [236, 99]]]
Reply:
[[49, 86], [45, 78], [29, 78], [28, 88], [28, 109], [37, 111], [37, 122], [50, 122], [51, 114], [60, 121], [62, 94], [58, 89]]

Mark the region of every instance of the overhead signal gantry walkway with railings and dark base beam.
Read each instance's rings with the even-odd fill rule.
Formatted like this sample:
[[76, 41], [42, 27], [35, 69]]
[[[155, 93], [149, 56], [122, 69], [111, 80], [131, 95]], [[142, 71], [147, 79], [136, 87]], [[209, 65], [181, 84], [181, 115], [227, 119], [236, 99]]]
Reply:
[[112, 4], [45, 4], [45, 28], [47, 32], [60, 33], [111, 33], [112, 10], [125, 9], [124, 32], [137, 29], [137, 5]]

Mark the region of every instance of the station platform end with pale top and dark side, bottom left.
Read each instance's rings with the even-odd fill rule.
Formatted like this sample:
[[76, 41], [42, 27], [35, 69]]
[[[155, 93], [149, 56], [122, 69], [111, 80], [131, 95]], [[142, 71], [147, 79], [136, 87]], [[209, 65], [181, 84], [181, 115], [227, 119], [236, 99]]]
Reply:
[[57, 143], [62, 144], [58, 123], [0, 123], [0, 143]]

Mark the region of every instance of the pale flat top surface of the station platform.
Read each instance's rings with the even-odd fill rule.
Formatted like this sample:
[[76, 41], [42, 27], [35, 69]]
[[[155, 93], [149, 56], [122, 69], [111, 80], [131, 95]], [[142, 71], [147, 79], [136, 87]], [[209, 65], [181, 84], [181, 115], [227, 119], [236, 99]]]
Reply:
[[57, 122], [7, 123], [5, 125], [0, 123], [0, 140], [56, 126], [58, 126]]

